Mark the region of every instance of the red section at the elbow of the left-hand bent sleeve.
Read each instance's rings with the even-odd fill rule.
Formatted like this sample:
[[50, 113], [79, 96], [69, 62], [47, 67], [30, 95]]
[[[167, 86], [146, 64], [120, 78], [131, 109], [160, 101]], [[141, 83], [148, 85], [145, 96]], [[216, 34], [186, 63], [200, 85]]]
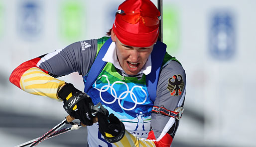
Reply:
[[[20, 88], [20, 78], [23, 75], [23, 73], [25, 71], [27, 71], [28, 69], [32, 68], [32, 67], [37, 67], [36, 64], [37, 62], [40, 60], [40, 58], [34, 58], [31, 60], [28, 60], [22, 64], [20, 64], [17, 68], [15, 68], [9, 78], [9, 81], [16, 85], [18, 88]], [[41, 69], [42, 71], [44, 71], [45, 73], [48, 74], [48, 71]], [[21, 88], [20, 88], [21, 89]]]

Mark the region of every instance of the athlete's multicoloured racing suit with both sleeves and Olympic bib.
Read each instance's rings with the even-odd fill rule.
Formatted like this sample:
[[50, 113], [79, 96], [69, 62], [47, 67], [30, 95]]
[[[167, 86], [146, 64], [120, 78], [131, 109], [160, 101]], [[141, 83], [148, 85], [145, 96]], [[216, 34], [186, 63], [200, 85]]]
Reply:
[[[87, 74], [99, 50], [108, 37], [76, 42], [19, 65], [10, 75], [10, 82], [25, 92], [57, 98], [57, 92], [65, 84], [57, 77], [78, 72], [86, 83]], [[113, 52], [109, 51], [113, 50]], [[148, 97], [145, 76], [150, 73], [149, 59], [144, 71], [136, 76], [125, 74], [115, 58], [115, 43], [104, 56], [106, 66], [88, 91], [94, 104], [101, 102], [125, 125], [125, 137], [110, 144], [103, 139], [98, 123], [88, 126], [90, 147], [170, 147], [179, 120], [162, 114], [151, 113], [153, 106], [163, 106], [174, 111], [183, 106], [186, 91], [186, 75], [181, 64], [166, 53], [163, 59], [156, 98]], [[103, 58], [103, 60], [104, 60]]]

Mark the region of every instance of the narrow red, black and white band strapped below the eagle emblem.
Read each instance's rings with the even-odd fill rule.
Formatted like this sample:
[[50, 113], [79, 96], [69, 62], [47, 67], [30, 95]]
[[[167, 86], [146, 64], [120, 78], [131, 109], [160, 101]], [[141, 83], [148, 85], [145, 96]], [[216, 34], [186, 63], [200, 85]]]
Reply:
[[176, 118], [177, 120], [181, 119], [181, 116], [183, 114], [184, 108], [183, 107], [177, 107], [174, 111], [168, 110], [163, 107], [163, 105], [159, 106], [153, 106], [152, 112], [159, 113], [165, 116]]

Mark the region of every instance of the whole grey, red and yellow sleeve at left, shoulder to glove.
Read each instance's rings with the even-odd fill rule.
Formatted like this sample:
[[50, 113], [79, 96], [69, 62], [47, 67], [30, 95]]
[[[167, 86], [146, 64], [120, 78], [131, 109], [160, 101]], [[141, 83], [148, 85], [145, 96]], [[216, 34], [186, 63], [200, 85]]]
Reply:
[[97, 40], [77, 42], [20, 64], [9, 80], [27, 93], [58, 99], [65, 82], [56, 77], [72, 72], [86, 75], [96, 52]]

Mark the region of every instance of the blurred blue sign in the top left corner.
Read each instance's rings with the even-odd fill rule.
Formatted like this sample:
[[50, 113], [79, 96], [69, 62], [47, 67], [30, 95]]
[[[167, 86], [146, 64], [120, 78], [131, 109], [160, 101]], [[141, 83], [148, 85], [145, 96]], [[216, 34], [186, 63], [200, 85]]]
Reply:
[[33, 39], [42, 30], [41, 8], [35, 1], [24, 1], [18, 8], [18, 32], [22, 37]]

